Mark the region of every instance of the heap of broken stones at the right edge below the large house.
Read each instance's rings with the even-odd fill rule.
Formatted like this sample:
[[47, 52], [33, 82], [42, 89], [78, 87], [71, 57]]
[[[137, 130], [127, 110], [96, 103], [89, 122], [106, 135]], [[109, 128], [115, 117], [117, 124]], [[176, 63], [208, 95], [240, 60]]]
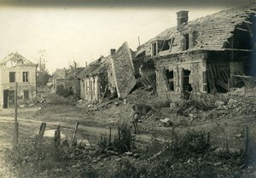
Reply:
[[240, 115], [256, 113], [256, 104], [249, 100], [230, 99], [225, 107], [230, 110], [230, 112]]

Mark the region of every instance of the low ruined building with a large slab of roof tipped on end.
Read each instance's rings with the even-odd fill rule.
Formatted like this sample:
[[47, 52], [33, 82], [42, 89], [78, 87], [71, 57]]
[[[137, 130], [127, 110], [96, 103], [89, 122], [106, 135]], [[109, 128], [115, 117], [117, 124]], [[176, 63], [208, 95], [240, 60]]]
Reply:
[[82, 99], [101, 102], [107, 97], [125, 97], [136, 85], [128, 44], [124, 43], [117, 51], [111, 49], [110, 54], [90, 63], [79, 73]]

